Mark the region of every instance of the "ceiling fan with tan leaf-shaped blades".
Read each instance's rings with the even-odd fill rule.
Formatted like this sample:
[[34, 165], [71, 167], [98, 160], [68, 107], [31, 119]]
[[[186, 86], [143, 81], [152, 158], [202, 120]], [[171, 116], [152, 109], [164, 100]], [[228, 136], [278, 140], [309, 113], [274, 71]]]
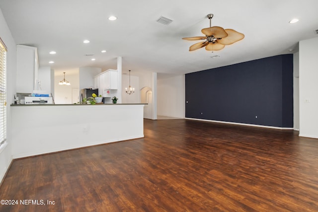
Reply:
[[210, 19], [210, 27], [201, 30], [205, 36], [197, 36], [190, 38], [182, 38], [183, 40], [205, 40], [204, 42], [196, 43], [190, 46], [189, 51], [194, 51], [205, 47], [207, 51], [218, 51], [244, 38], [244, 34], [235, 31], [234, 29], [224, 29], [220, 26], [211, 27], [211, 19], [213, 14], [208, 14]]

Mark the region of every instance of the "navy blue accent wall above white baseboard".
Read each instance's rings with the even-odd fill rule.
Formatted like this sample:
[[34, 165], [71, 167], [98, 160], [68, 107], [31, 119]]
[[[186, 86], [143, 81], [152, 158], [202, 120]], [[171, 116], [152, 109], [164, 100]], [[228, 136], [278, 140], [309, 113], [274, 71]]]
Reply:
[[186, 118], [292, 128], [293, 55], [188, 73], [185, 99]]

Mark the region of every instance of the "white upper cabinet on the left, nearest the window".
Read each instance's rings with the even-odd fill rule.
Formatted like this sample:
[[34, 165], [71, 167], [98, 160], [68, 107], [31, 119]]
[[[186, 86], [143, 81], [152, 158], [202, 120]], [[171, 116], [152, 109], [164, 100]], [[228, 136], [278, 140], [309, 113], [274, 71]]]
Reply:
[[32, 93], [38, 90], [38, 68], [37, 48], [16, 45], [16, 92]]

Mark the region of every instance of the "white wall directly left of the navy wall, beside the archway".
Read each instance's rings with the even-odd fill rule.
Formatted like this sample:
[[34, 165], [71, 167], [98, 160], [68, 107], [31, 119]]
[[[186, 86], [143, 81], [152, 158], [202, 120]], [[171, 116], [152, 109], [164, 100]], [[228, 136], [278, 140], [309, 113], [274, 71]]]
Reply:
[[158, 77], [158, 115], [185, 117], [185, 75]]

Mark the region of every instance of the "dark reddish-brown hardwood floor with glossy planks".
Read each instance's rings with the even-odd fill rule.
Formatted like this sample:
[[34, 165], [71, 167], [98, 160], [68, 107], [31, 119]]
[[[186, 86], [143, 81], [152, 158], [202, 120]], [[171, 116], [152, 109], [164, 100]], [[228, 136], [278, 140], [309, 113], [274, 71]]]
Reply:
[[0, 212], [317, 212], [318, 140], [145, 120], [143, 139], [14, 160], [0, 199], [18, 200]]

